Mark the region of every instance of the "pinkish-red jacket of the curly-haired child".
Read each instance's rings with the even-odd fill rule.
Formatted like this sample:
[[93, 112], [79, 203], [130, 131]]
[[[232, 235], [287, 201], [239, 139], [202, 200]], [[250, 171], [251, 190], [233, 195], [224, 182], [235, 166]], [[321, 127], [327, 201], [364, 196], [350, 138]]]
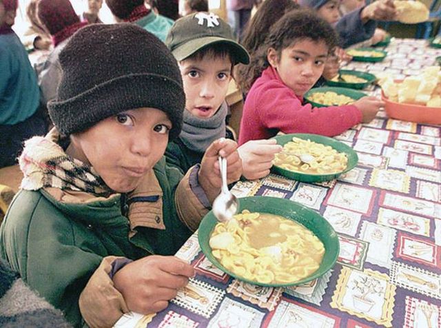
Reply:
[[239, 145], [249, 140], [268, 139], [279, 131], [336, 136], [361, 122], [362, 114], [354, 105], [312, 107], [302, 105], [280, 80], [277, 72], [267, 68], [247, 94], [240, 121]]

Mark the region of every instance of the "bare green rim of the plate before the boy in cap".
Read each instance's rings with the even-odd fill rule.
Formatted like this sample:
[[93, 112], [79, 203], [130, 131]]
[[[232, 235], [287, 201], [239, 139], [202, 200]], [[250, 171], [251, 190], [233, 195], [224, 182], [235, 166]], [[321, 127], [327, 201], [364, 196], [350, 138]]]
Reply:
[[353, 167], [356, 167], [358, 163], [358, 156], [355, 150], [353, 150], [345, 143], [341, 143], [340, 141], [329, 138], [327, 136], [319, 136], [318, 134], [297, 133], [297, 134], [282, 134], [280, 136], [275, 136], [274, 139], [276, 139], [278, 145], [285, 145], [285, 143], [292, 141], [292, 138], [294, 136], [296, 136], [299, 139], [305, 139], [305, 140], [309, 139], [311, 141], [314, 141], [315, 143], [322, 143], [323, 145], [328, 145], [333, 147], [338, 152], [344, 152], [347, 156], [346, 169], [342, 172], [331, 173], [331, 174], [308, 174], [303, 172], [294, 172], [294, 171], [286, 170], [283, 169], [282, 167], [273, 165], [273, 167], [271, 168], [272, 172], [296, 181], [309, 182], [309, 183], [323, 182], [338, 178], [338, 176], [340, 176], [341, 174], [352, 170]]

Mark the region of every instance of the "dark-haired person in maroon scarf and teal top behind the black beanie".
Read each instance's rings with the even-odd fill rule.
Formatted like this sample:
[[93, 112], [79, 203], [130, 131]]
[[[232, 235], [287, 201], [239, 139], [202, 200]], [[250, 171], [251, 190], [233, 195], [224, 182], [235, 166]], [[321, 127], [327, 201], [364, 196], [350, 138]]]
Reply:
[[135, 23], [147, 30], [161, 41], [165, 41], [167, 33], [173, 25], [173, 20], [156, 14], [152, 9], [147, 9], [144, 0], [105, 0], [110, 11], [119, 23], [125, 21]]

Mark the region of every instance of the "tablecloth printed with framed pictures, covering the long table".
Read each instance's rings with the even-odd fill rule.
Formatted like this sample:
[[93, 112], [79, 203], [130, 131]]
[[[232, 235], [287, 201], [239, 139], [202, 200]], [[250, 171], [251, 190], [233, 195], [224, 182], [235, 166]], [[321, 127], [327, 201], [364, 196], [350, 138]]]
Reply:
[[[400, 79], [441, 55], [415, 39], [392, 39], [386, 50], [380, 63], [347, 68]], [[380, 111], [336, 137], [359, 157], [338, 180], [309, 184], [270, 174], [235, 185], [236, 196], [289, 198], [325, 216], [341, 249], [318, 280], [287, 289], [241, 283], [209, 263], [196, 233], [176, 254], [192, 263], [196, 277], [167, 309], [127, 314], [116, 326], [441, 327], [440, 132]]]

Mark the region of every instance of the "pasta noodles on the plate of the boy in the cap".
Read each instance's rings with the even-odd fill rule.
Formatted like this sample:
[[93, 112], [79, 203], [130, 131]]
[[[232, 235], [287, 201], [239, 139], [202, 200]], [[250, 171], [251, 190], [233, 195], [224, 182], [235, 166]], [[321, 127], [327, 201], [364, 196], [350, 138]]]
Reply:
[[[311, 155], [312, 161], [302, 163], [300, 155]], [[347, 155], [337, 152], [331, 146], [294, 137], [283, 145], [283, 151], [276, 154], [274, 165], [293, 172], [308, 174], [333, 174], [346, 170]]]

